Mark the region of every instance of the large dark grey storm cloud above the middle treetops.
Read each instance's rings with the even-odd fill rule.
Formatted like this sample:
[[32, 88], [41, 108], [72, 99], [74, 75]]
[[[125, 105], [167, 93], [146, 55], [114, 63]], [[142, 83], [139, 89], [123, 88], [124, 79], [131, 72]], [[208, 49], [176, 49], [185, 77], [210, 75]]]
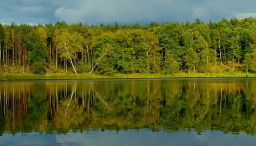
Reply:
[[183, 1], [77, 1], [74, 9], [60, 7], [55, 17], [68, 23], [141, 23], [181, 21], [193, 12]]

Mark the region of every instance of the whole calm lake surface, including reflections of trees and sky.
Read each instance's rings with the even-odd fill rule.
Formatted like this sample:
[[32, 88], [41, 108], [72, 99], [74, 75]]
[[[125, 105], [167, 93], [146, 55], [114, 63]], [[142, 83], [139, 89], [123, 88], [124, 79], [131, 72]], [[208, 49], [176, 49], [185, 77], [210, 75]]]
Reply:
[[0, 82], [0, 145], [256, 145], [256, 78]]

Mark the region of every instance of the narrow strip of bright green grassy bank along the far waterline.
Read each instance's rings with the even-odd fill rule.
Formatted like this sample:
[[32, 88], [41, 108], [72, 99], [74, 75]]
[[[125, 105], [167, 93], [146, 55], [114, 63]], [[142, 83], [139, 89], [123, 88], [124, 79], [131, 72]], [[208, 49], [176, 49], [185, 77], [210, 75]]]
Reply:
[[29, 79], [102, 79], [102, 78], [179, 78], [179, 77], [256, 77], [256, 74], [244, 72], [221, 72], [219, 74], [186, 73], [180, 74], [114, 74], [113, 76], [88, 75], [88, 74], [0, 74], [0, 80], [29, 80]]

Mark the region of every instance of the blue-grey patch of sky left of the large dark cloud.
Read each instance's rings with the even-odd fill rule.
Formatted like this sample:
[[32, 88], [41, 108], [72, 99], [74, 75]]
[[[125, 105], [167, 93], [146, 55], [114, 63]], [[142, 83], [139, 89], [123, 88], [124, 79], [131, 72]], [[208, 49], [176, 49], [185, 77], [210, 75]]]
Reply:
[[53, 5], [51, 1], [31, 1], [31, 0], [8, 0], [1, 2], [0, 5], [0, 22], [10, 24], [11, 22], [19, 23], [49, 23], [56, 21], [54, 17]]

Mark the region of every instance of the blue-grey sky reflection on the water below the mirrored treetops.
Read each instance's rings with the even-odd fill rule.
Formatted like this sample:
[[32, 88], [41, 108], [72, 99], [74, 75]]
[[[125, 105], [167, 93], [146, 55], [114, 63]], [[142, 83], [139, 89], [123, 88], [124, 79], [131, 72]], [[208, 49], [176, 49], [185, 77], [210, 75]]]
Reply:
[[66, 135], [29, 133], [0, 136], [0, 145], [256, 145], [254, 136], [219, 131], [166, 133], [163, 130], [84, 131]]

